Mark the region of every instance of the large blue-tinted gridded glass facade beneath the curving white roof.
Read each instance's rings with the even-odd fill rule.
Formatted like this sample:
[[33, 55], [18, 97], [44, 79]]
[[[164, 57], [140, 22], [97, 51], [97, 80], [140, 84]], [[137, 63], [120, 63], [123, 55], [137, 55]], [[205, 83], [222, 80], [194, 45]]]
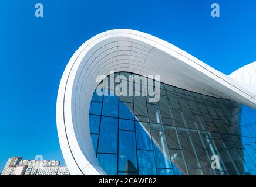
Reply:
[[107, 174], [256, 175], [256, 110], [161, 82], [159, 97], [95, 91], [90, 133]]

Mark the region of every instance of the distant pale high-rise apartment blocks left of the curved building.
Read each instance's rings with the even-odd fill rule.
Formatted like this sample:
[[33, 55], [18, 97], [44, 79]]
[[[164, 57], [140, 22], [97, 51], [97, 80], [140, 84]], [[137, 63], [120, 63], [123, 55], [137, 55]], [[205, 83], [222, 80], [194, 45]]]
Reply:
[[66, 166], [60, 166], [56, 160], [22, 160], [11, 157], [1, 175], [69, 175]]

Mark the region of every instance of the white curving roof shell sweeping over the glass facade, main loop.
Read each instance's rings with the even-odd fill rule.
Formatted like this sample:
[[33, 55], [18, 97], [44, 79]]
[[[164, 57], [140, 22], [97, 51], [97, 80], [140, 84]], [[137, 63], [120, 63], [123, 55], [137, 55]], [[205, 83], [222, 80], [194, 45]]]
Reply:
[[97, 34], [70, 58], [59, 86], [58, 136], [72, 175], [106, 174], [93, 151], [89, 108], [96, 77], [110, 71], [160, 75], [166, 84], [256, 108], [256, 91], [246, 82], [214, 70], [166, 41], [129, 29]]

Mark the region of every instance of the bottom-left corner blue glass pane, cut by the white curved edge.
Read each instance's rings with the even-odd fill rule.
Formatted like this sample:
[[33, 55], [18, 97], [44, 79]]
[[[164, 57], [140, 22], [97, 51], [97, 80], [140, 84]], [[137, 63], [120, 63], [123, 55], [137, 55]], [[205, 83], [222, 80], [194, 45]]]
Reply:
[[117, 155], [98, 154], [97, 159], [108, 175], [117, 175]]

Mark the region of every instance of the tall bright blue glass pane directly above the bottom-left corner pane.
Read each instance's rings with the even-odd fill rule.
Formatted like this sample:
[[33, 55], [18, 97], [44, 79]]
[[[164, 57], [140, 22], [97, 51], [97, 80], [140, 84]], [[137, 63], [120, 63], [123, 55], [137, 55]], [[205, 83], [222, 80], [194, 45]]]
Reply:
[[118, 121], [112, 117], [102, 117], [100, 124], [100, 153], [117, 153]]

